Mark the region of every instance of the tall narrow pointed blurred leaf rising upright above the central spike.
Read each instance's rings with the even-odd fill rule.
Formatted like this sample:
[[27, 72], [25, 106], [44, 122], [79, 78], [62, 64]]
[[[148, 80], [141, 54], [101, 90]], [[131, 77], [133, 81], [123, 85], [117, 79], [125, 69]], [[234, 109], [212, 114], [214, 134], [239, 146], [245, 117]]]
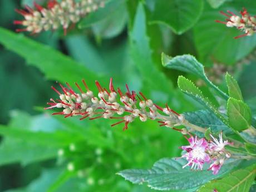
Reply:
[[152, 51], [150, 40], [147, 36], [146, 23], [144, 6], [140, 3], [137, 7], [134, 25], [129, 34], [132, 60], [139, 69], [143, 80], [145, 80], [152, 90], [170, 93], [173, 85], [164, 73], [156, 68], [156, 63], [152, 60]]

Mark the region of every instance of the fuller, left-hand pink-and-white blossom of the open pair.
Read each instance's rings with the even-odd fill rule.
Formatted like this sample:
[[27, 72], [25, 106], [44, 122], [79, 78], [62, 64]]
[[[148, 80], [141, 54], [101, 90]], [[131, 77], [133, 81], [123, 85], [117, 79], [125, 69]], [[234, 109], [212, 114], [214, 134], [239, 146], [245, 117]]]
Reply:
[[206, 150], [209, 147], [208, 142], [202, 138], [197, 139], [191, 136], [189, 139], [188, 146], [181, 146], [181, 149], [187, 151], [182, 157], [185, 157], [188, 160], [188, 164], [184, 165], [183, 168], [186, 166], [191, 166], [191, 169], [200, 169], [203, 170], [204, 163], [210, 162], [210, 156], [206, 153]]

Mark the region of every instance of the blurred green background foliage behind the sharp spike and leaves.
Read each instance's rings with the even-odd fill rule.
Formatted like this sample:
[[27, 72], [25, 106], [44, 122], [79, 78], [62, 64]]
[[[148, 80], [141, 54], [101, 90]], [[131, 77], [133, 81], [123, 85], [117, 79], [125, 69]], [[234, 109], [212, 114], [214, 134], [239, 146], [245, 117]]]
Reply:
[[[201, 106], [176, 88], [181, 73], [161, 65], [162, 52], [190, 53], [224, 91], [225, 72], [232, 73], [247, 102], [256, 104], [256, 36], [234, 40], [239, 31], [214, 22], [224, 19], [220, 10], [246, 7], [256, 14], [255, 1], [111, 0], [67, 36], [62, 30], [15, 34], [12, 23], [21, 16], [14, 9], [24, 4], [32, 1], [0, 1], [1, 191], [152, 191], [115, 173], [180, 155], [184, 138], [153, 121], [135, 121], [122, 131], [121, 125], [111, 128], [112, 121], [51, 116], [42, 109], [56, 97], [55, 81], [85, 78], [96, 91], [95, 80], [107, 86], [114, 77], [123, 90], [128, 83], [159, 105], [194, 111]], [[214, 102], [208, 87], [190, 78]], [[68, 171], [71, 165], [75, 170]]]

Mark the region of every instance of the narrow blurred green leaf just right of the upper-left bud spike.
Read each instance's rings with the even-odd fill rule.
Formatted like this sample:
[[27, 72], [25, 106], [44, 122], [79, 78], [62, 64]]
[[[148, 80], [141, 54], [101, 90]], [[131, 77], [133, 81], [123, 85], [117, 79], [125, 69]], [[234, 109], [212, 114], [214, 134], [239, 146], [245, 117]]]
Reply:
[[108, 17], [119, 6], [124, 4], [127, 0], [109, 0], [106, 2], [104, 8], [100, 8], [96, 12], [90, 13], [87, 17], [83, 18], [80, 23], [78, 23], [79, 28], [90, 27], [92, 24], [100, 22]]

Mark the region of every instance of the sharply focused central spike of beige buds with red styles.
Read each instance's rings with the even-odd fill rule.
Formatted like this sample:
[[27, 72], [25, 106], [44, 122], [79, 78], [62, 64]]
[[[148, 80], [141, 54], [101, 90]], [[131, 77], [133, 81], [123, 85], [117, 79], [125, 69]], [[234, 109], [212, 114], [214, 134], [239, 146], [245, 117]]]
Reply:
[[[58, 91], [52, 86], [52, 89], [58, 93], [59, 99], [48, 102], [50, 107], [45, 109], [60, 108], [61, 112], [55, 112], [52, 115], [64, 115], [71, 117], [80, 115], [80, 120], [89, 118], [90, 120], [104, 119], [119, 119], [111, 126], [124, 123], [124, 130], [128, 128], [128, 124], [139, 118], [141, 121], [160, 120], [160, 126], [174, 127], [182, 125], [184, 120], [183, 115], [178, 114], [166, 104], [165, 107], [160, 107], [152, 100], [147, 99], [141, 92], [139, 95], [135, 91], [130, 91], [126, 84], [127, 91], [123, 93], [120, 88], [115, 90], [112, 84], [112, 78], [109, 83], [109, 90], [102, 87], [98, 81], [96, 86], [99, 92], [97, 96], [88, 88], [85, 80], [82, 80], [86, 91], [75, 83], [80, 93], [75, 92], [70, 84], [66, 83], [64, 87], [59, 83], [61, 90]], [[174, 128], [175, 129], [175, 128]]]

